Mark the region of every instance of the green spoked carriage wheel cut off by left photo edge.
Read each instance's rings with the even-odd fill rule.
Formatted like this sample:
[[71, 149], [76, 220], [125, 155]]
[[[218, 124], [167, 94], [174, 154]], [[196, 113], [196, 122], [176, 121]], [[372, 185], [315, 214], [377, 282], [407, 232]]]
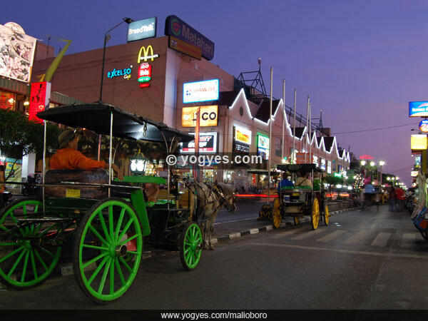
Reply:
[[35, 287], [51, 274], [61, 257], [61, 246], [49, 243], [55, 223], [31, 223], [17, 228], [17, 220], [42, 210], [41, 200], [15, 200], [0, 211], [0, 282], [17, 290]]

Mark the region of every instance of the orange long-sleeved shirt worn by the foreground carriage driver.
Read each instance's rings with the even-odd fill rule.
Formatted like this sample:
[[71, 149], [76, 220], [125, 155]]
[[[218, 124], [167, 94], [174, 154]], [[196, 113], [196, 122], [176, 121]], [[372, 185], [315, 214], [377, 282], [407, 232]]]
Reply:
[[56, 154], [51, 157], [51, 169], [84, 169], [94, 170], [96, 168], [106, 167], [105, 161], [94, 161], [87, 158], [81, 152], [73, 148], [58, 149]]

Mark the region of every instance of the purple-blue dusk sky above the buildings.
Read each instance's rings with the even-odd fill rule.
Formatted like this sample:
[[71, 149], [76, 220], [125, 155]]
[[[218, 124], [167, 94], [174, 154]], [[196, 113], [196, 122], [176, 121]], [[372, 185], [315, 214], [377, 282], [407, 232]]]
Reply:
[[[43, 3], [43, 6], [40, 4]], [[417, 124], [408, 101], [428, 99], [428, 1], [280, 0], [280, 1], [6, 1], [0, 24], [14, 21], [27, 34], [71, 39], [68, 53], [101, 48], [103, 35], [124, 16], [158, 17], [163, 36], [166, 16], [175, 14], [215, 43], [213, 63], [233, 76], [258, 68], [273, 95], [312, 117], [323, 111], [333, 133]], [[108, 45], [126, 42], [126, 25]], [[58, 52], [61, 43], [53, 41]], [[410, 134], [414, 126], [337, 135], [340, 146], [356, 156], [383, 159], [384, 172], [409, 183]]]

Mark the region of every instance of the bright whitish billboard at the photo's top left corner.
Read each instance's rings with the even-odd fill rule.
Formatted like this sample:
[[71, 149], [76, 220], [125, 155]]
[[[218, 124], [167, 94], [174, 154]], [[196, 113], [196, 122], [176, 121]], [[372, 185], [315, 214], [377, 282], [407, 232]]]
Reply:
[[36, 40], [18, 24], [0, 24], [0, 76], [29, 83]]

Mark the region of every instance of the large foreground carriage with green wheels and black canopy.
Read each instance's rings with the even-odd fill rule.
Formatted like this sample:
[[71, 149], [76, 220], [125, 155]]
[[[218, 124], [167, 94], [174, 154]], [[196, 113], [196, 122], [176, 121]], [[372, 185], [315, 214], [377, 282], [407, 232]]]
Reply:
[[[127, 176], [119, 182], [111, 175], [113, 136], [162, 142], [167, 153], [174, 141], [194, 136], [103, 103], [51, 108], [38, 116], [110, 136], [109, 170], [49, 170], [40, 184], [43, 198], [22, 198], [1, 210], [1, 283], [21, 290], [39, 285], [55, 270], [62, 253], [72, 260], [76, 281], [87, 297], [112, 302], [138, 274], [143, 237], [160, 248], [179, 250], [186, 270], [198, 265], [205, 237], [201, 226], [223, 205], [230, 206], [233, 195], [215, 186], [218, 203], [207, 213], [198, 210], [198, 188], [170, 197], [169, 166], [168, 180]], [[148, 202], [139, 186], [148, 183], [166, 185], [166, 200]]]

